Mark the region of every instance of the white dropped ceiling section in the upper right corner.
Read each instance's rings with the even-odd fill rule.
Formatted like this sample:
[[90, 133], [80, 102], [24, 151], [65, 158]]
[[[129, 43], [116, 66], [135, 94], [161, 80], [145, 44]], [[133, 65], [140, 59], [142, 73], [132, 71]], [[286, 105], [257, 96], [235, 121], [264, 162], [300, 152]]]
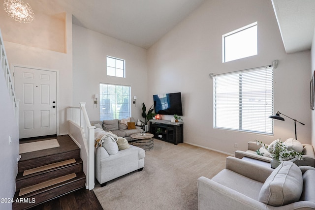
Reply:
[[286, 53], [310, 50], [315, 0], [272, 0]]

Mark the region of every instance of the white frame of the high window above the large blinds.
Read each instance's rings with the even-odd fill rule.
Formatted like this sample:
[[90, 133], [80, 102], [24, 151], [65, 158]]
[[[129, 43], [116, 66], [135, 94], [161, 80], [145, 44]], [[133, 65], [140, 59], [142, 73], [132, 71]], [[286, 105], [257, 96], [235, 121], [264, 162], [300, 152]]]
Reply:
[[245, 57], [240, 57], [240, 58], [236, 58], [236, 59], [233, 59], [233, 60], [239, 60], [239, 59], [244, 59], [244, 58], [248, 58], [248, 57], [251, 57], [251, 56], [258, 55], [258, 22], [254, 22], [254, 23], [249, 24], [247, 26], [244, 26], [244, 27], [242, 27], [240, 29], [233, 30], [231, 32], [228, 32], [228, 33], [225, 33], [225, 34], [222, 35], [222, 62], [223, 63], [229, 62], [229, 61], [233, 61], [233, 60], [226, 60], [226, 42], [225, 42], [225, 38], [228, 37], [228, 36], [237, 34], [239, 32], [251, 29], [252, 27], [256, 27], [256, 30], [257, 30], [257, 32], [256, 32], [256, 53], [255, 54], [249, 54], [249, 55], [246, 55]]

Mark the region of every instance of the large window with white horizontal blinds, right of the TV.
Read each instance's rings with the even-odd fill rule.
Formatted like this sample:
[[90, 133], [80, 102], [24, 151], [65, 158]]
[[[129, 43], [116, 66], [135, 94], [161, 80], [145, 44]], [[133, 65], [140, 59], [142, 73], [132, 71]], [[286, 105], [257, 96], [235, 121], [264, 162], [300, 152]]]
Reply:
[[273, 67], [214, 77], [214, 127], [273, 134]]

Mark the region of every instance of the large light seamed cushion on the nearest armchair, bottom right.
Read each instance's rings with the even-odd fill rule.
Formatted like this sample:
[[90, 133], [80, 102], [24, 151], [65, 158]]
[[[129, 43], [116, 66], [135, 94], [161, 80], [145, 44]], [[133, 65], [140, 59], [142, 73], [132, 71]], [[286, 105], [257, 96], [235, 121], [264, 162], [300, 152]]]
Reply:
[[262, 185], [258, 201], [270, 206], [283, 206], [299, 201], [302, 190], [301, 170], [293, 162], [284, 161]]

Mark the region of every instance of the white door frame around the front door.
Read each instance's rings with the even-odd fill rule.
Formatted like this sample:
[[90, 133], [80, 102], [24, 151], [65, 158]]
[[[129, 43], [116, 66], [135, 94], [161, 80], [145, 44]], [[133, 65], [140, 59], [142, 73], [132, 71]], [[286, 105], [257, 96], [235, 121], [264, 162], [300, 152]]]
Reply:
[[[13, 72], [11, 72], [11, 75], [13, 75], [13, 82], [15, 80], [14, 78], [14, 67], [22, 67], [22, 68], [32, 68], [32, 69], [36, 69], [36, 70], [44, 70], [44, 71], [53, 71], [56, 72], [56, 91], [57, 91], [57, 102], [56, 102], [56, 106], [57, 106], [57, 136], [59, 136], [59, 70], [55, 70], [55, 69], [49, 69], [49, 68], [42, 68], [42, 67], [34, 67], [34, 66], [29, 66], [29, 65], [21, 65], [21, 64], [15, 64], [15, 63], [11, 63], [10, 65], [10, 69], [12, 69]], [[14, 87], [14, 84], [13, 84]]]

